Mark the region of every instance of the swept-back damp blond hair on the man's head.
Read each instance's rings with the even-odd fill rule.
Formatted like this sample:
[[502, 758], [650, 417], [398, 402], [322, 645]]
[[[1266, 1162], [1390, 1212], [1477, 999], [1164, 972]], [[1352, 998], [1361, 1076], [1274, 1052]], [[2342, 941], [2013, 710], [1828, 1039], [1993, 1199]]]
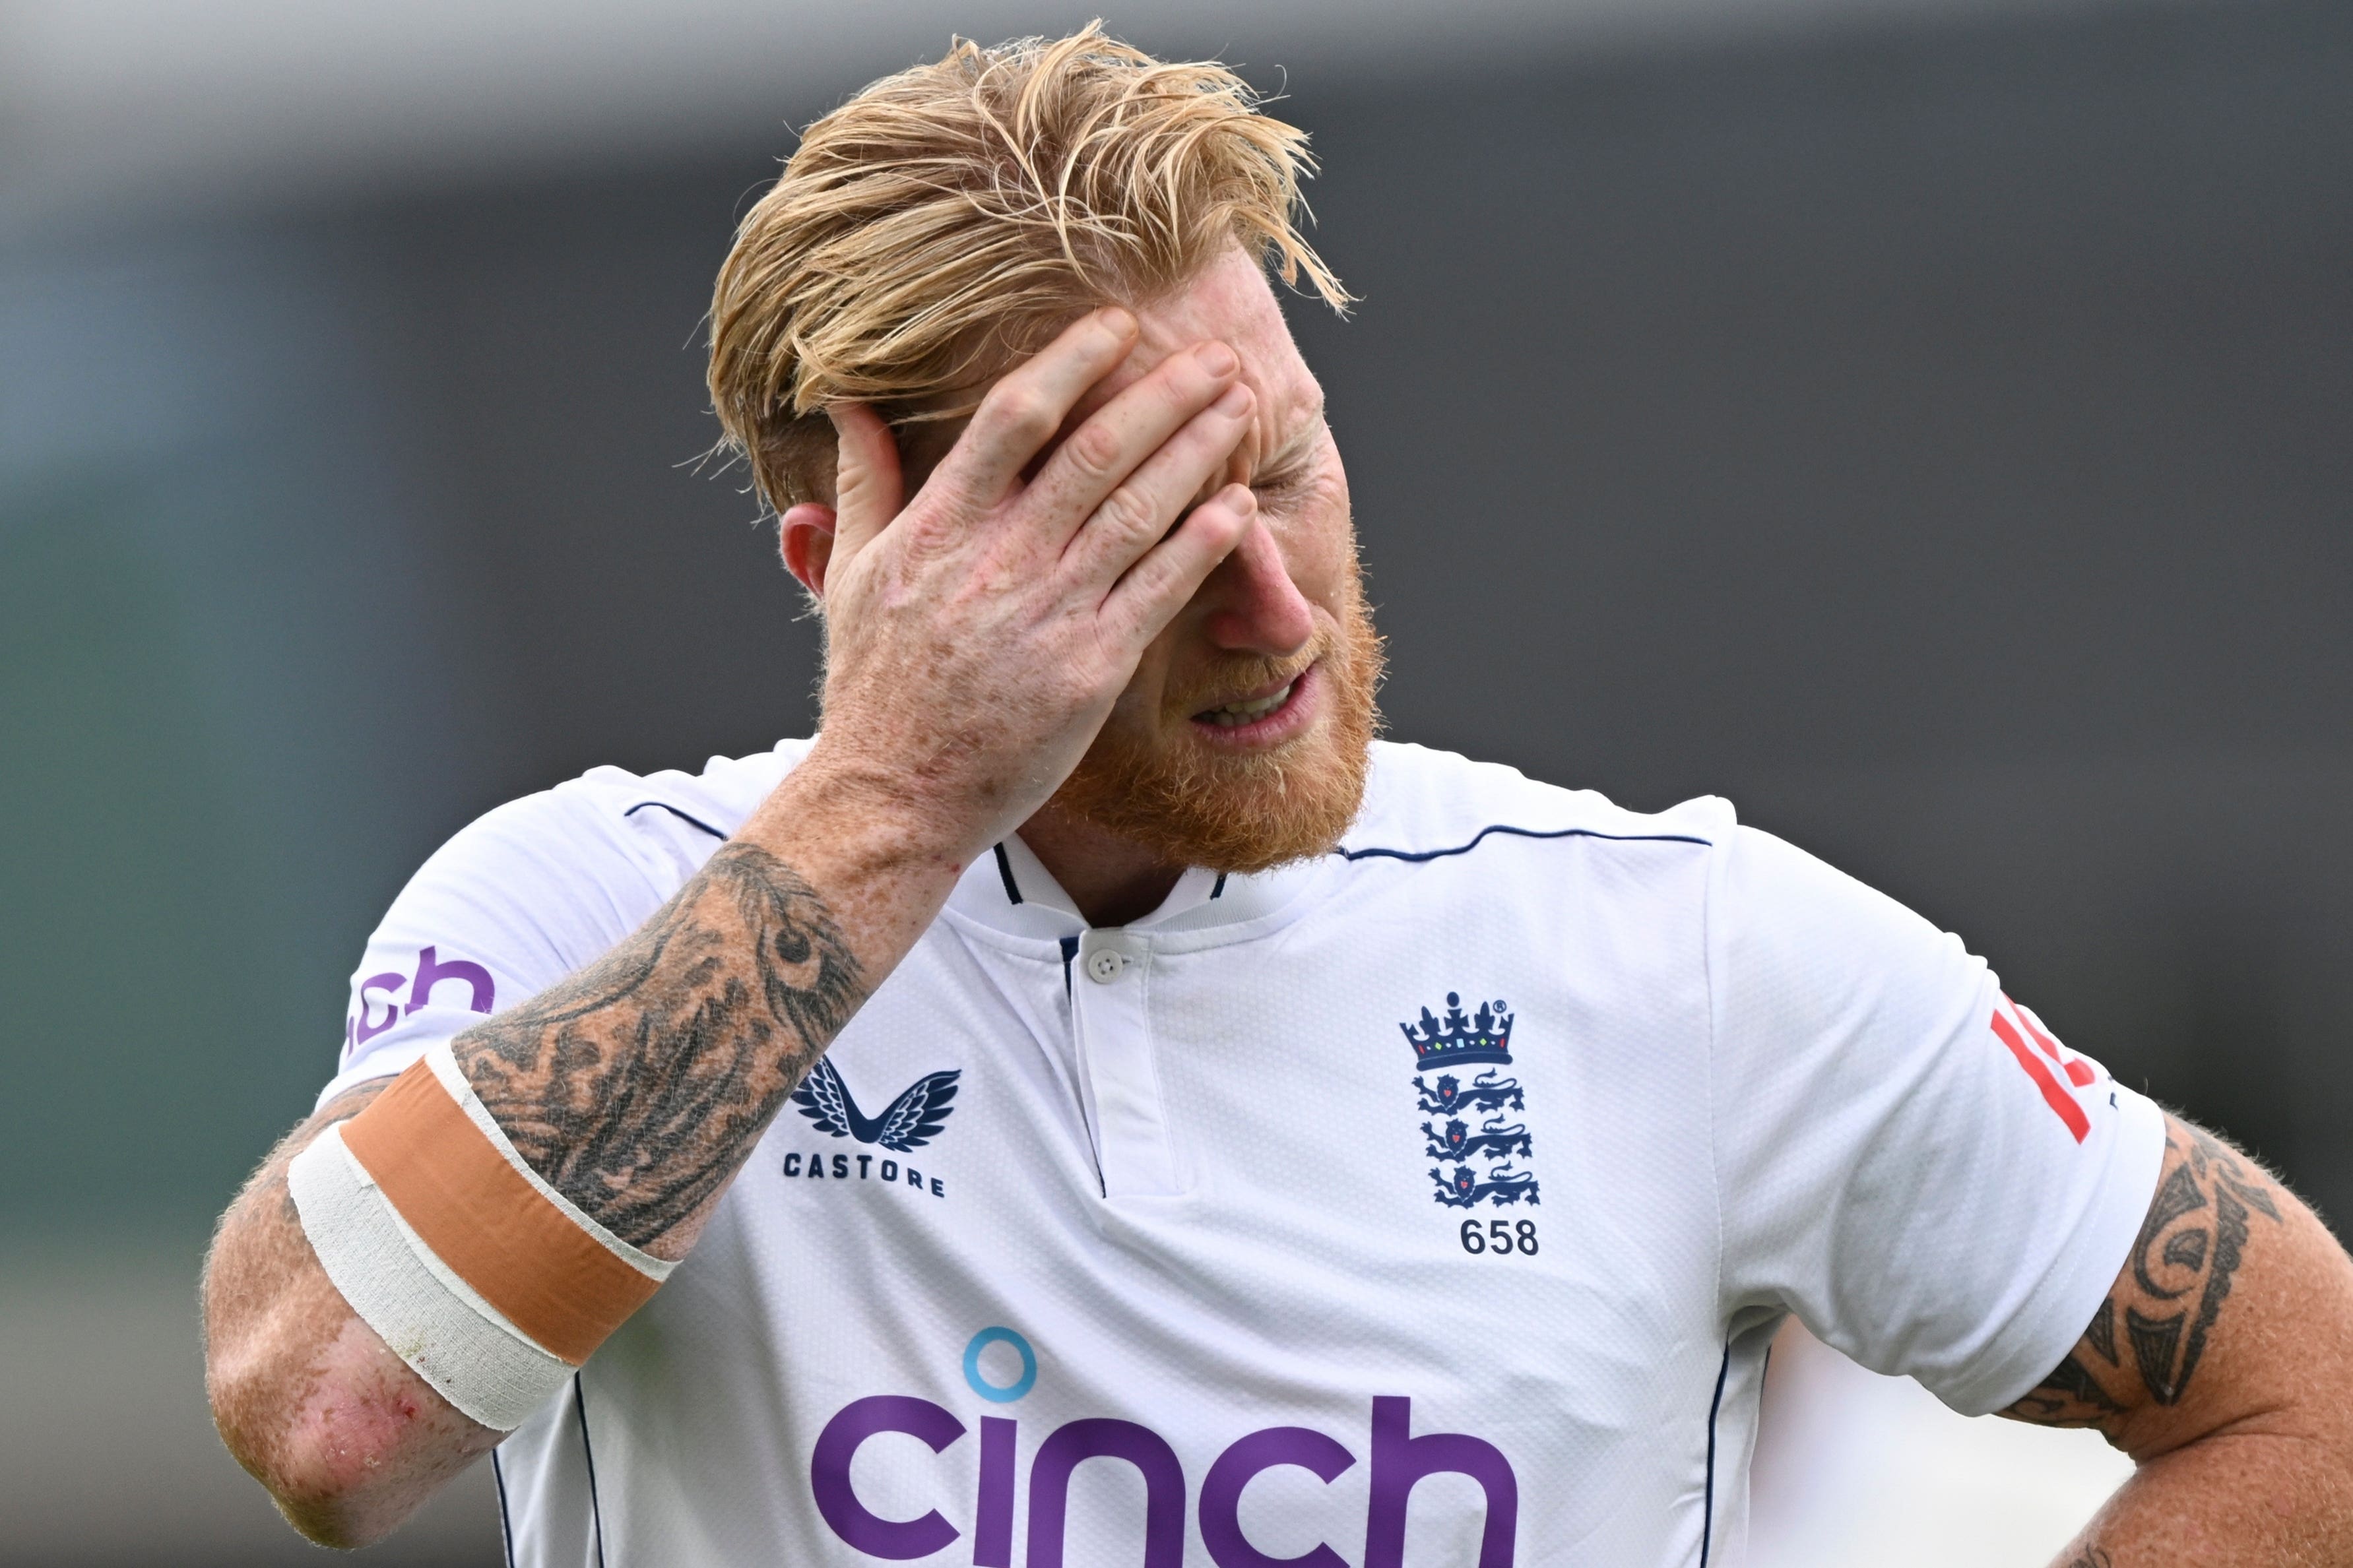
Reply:
[[882, 78], [812, 125], [744, 219], [711, 299], [711, 404], [784, 510], [831, 498], [831, 402], [892, 423], [979, 388], [1082, 310], [1146, 306], [1240, 244], [1332, 306], [1299, 235], [1306, 132], [1219, 63], [1104, 35]]

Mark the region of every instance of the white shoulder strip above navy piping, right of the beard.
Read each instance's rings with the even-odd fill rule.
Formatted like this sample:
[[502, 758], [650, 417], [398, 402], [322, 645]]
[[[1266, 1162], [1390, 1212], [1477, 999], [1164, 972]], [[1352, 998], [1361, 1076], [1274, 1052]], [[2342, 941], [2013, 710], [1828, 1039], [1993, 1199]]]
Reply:
[[1666, 811], [1626, 811], [1593, 790], [1562, 790], [1499, 762], [1381, 741], [1348, 860], [1428, 863], [1478, 853], [1520, 856], [1534, 844], [1685, 846], [1680, 858], [1729, 846], [1732, 802], [1704, 795]]

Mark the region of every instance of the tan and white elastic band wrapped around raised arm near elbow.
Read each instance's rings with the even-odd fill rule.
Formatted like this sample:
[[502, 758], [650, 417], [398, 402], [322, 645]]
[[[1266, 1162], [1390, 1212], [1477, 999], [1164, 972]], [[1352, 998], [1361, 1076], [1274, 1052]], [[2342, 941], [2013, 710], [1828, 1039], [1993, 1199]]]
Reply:
[[532, 1171], [447, 1044], [294, 1157], [327, 1279], [449, 1403], [513, 1432], [668, 1279]]

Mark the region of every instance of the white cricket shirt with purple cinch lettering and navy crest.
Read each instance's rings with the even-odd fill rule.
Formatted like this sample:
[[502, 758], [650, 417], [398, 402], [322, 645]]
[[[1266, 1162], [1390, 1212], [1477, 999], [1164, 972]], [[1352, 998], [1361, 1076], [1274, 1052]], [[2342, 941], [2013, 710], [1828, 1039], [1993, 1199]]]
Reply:
[[[492, 811], [344, 1072], [626, 938], [807, 750]], [[1339, 853], [1089, 931], [1012, 839], [499, 1448], [525, 1568], [1737, 1563], [1781, 1319], [1995, 1410], [2162, 1114], [1720, 799], [1379, 745]]]

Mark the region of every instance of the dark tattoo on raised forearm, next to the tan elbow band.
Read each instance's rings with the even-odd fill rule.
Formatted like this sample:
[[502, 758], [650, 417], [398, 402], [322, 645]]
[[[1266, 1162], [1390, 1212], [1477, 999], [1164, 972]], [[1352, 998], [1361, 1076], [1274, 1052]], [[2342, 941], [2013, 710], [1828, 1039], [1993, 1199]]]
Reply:
[[866, 990], [816, 891], [736, 842], [626, 943], [454, 1051], [522, 1159], [645, 1246], [727, 1185]]

